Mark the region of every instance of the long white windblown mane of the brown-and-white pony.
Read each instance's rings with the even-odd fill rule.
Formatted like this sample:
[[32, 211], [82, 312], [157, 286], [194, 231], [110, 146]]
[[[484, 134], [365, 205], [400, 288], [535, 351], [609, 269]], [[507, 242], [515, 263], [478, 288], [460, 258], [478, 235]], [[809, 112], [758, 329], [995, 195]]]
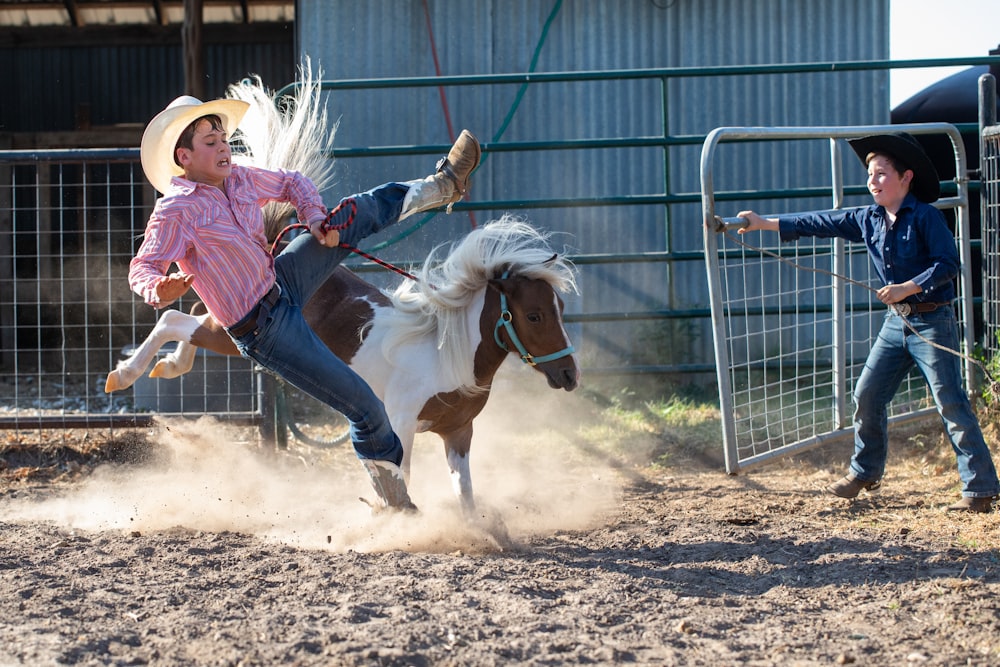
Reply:
[[[556, 255], [543, 233], [512, 215], [489, 222], [451, 245], [443, 260], [431, 251], [417, 273], [390, 294], [394, 310], [387, 315], [383, 353], [392, 359], [402, 343], [433, 336], [441, 354], [439, 370], [449, 384], [475, 391], [469, 306], [491, 278], [511, 276], [541, 279], [559, 292], [575, 292], [572, 263]], [[472, 322], [473, 325], [478, 319]]]

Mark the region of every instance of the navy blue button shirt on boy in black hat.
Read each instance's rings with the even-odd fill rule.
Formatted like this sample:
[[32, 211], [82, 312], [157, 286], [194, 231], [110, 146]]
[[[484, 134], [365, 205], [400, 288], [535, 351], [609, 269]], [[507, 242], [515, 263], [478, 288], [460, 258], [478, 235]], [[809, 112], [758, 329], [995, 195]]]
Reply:
[[864, 208], [806, 213], [778, 218], [782, 241], [803, 236], [841, 237], [864, 242], [875, 272], [886, 285], [912, 280], [923, 289], [906, 299], [909, 303], [946, 303], [955, 299], [958, 249], [941, 211], [906, 195], [892, 227], [885, 208]]

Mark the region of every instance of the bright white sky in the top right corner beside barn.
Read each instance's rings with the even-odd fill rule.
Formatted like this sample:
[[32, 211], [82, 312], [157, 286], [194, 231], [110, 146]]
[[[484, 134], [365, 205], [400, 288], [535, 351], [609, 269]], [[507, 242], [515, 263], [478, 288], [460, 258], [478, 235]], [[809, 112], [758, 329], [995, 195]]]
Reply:
[[[1000, 0], [889, 0], [889, 59], [988, 56], [1000, 45]], [[891, 107], [964, 67], [889, 74]]]

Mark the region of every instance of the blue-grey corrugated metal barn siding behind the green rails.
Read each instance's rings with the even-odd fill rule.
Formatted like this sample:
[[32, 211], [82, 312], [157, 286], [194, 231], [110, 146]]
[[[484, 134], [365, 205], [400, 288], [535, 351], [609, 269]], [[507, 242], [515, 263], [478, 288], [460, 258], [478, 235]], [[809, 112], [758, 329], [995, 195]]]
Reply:
[[[301, 52], [322, 65], [327, 79], [434, 76], [432, 44], [446, 76], [527, 72], [536, 49], [536, 72], [879, 60], [889, 52], [888, 0], [301, 0], [297, 17]], [[666, 112], [656, 80], [533, 83], [523, 98], [513, 84], [451, 86], [445, 95], [456, 132], [469, 127], [501, 144], [704, 135], [722, 125], [860, 125], [889, 116], [885, 71], [708, 76], [666, 86]], [[341, 120], [338, 146], [448, 143], [436, 88], [348, 90], [330, 103]], [[512, 111], [502, 136], [493, 136]], [[720, 176], [726, 189], [780, 188], [803, 174], [820, 186], [829, 182], [824, 148], [733, 150]], [[670, 193], [697, 193], [699, 159], [700, 145], [671, 147], [666, 159], [660, 147], [497, 152], [477, 172], [473, 199], [663, 194], [666, 179]], [[341, 186], [348, 192], [416, 177], [429, 164], [427, 158], [392, 165], [345, 161]], [[486, 213], [492, 216], [481, 215], [480, 222], [502, 211]], [[702, 245], [697, 203], [666, 210], [542, 208], [527, 215], [540, 227], [567, 232], [577, 254], [697, 252]], [[460, 233], [461, 223], [451, 218], [429, 225], [430, 238], [419, 247]], [[642, 317], [707, 308], [702, 262], [586, 264], [580, 282], [582, 296], [570, 299], [568, 312], [635, 317], [584, 325], [580, 347], [588, 366], [713, 363], [707, 320]]]

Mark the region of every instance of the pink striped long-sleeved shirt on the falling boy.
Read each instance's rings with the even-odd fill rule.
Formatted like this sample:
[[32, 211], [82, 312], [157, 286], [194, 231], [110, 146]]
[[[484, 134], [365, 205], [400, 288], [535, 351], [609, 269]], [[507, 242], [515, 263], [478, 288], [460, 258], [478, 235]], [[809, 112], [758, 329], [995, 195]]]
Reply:
[[236, 324], [274, 284], [261, 212], [269, 201], [291, 203], [302, 222], [326, 218], [316, 186], [298, 172], [234, 165], [226, 192], [175, 176], [149, 216], [129, 286], [154, 308], [168, 306], [156, 286], [176, 263], [195, 277], [192, 287], [212, 317]]

